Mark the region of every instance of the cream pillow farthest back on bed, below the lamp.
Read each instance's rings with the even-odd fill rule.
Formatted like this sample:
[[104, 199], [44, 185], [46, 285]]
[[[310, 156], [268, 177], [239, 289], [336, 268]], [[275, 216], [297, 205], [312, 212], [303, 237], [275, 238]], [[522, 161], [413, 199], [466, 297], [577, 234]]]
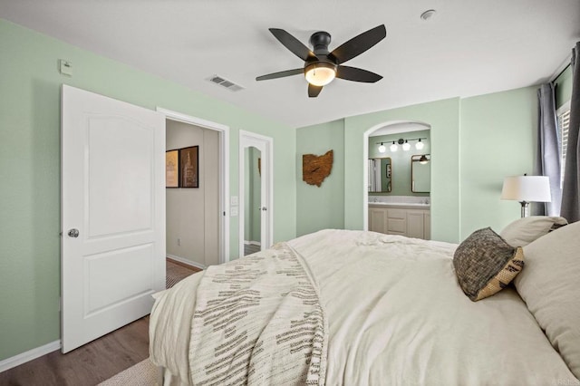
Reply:
[[536, 238], [546, 235], [552, 228], [556, 229], [567, 223], [564, 217], [523, 217], [507, 225], [499, 236], [510, 246], [527, 246]]

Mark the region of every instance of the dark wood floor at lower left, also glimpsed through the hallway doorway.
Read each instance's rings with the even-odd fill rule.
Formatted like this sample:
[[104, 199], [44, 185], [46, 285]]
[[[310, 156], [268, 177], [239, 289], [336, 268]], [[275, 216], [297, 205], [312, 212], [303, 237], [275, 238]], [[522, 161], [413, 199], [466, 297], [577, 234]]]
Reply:
[[[172, 282], [198, 271], [169, 259], [167, 264], [168, 279]], [[51, 352], [0, 372], [0, 385], [92, 386], [148, 357], [149, 315], [72, 352]]]

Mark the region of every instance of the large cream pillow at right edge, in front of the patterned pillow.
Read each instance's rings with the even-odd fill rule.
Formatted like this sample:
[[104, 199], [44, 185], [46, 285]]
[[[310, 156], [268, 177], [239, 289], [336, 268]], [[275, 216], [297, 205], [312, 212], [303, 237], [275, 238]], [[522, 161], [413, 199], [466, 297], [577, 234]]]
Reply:
[[517, 292], [557, 352], [580, 378], [580, 222], [524, 246]]

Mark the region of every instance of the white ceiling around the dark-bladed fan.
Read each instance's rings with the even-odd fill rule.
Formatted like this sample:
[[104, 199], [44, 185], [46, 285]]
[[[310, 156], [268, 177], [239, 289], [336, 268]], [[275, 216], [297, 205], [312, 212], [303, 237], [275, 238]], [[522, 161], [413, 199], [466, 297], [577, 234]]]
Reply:
[[[292, 127], [545, 82], [580, 38], [578, 0], [0, 0], [0, 15]], [[332, 51], [379, 24], [386, 39], [347, 63], [377, 83], [335, 80], [311, 99], [301, 75], [255, 80], [303, 64], [269, 27], [304, 44], [327, 31]]]

